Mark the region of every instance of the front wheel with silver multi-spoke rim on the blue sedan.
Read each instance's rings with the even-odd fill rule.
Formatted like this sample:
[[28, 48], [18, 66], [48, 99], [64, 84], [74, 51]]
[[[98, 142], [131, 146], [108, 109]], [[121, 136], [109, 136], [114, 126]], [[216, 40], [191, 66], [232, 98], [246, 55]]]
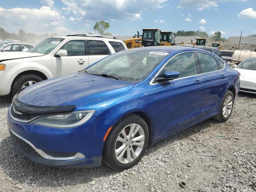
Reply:
[[102, 161], [115, 170], [125, 170], [137, 164], [148, 145], [148, 126], [138, 115], [125, 116], [112, 128]]

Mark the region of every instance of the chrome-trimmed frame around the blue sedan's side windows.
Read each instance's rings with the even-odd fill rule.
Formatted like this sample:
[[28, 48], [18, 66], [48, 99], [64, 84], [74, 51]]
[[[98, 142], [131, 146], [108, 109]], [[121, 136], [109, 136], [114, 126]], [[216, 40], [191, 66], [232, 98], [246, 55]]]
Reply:
[[[154, 75], [154, 77], [152, 78], [152, 80], [150, 81], [149, 84], [150, 84], [150, 85], [163, 84], [163, 83], [167, 83], [167, 82], [171, 82], [171, 81], [176, 81], [176, 80], [180, 80], [180, 79], [185, 79], [185, 78], [190, 78], [190, 77], [194, 77], [194, 76], [199, 76], [199, 75], [202, 75], [202, 74], [214, 73], [214, 72], [216, 72], [216, 71], [224, 70], [224, 69], [226, 68], [226, 63], [225, 63], [225, 62], [223, 62], [222, 60], [220, 60], [220, 59], [217, 58], [216, 56], [213, 56], [213, 55], [211, 55], [211, 54], [208, 54], [208, 55], [214, 57], [215, 59], [218, 59], [218, 60], [220, 60], [221, 62], [223, 62], [223, 63], [224, 63], [224, 67], [223, 67], [222, 69], [219, 69], [219, 70], [216, 70], [216, 71], [210, 71], [210, 72], [205, 72], [205, 73], [199, 73], [199, 74], [196, 74], [196, 75], [191, 75], [191, 76], [176, 78], [176, 79], [174, 79], [174, 80], [168, 80], [168, 81], [164, 81], [164, 82], [156, 82], [155, 77], [164, 69], [164, 67], [168, 64], [168, 62], [170, 62], [170, 60], [172, 60], [174, 57], [176, 57], [176, 56], [178, 56], [178, 55], [180, 55], [180, 54], [182, 54], [182, 53], [188, 53], [188, 52], [194, 52], [194, 56], [196, 55], [195, 60], [196, 60], [197, 68], [198, 68], [198, 65], [199, 65], [200, 72], [202, 72], [202, 66], [201, 66], [201, 64], [200, 64], [200, 62], [199, 62], [199, 58], [198, 58], [198, 55], [197, 55], [196, 53], [204, 53], [204, 54], [208, 54], [208, 53], [206, 53], [206, 52], [201, 52], [201, 51], [185, 51], [185, 52], [181, 52], [181, 53], [178, 53], [178, 54], [172, 56], [168, 61], [166, 61], [166, 63], [160, 68], [160, 70], [158, 70], [158, 72], [156, 72], [156, 74]], [[216, 62], [217, 62], [217, 61], [216, 61]], [[218, 62], [217, 62], [217, 64], [218, 64]]]

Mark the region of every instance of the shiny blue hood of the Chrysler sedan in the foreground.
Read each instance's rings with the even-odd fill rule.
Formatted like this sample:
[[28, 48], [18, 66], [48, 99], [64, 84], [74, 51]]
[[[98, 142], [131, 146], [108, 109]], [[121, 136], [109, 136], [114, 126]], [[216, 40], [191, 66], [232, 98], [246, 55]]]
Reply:
[[75, 73], [52, 78], [25, 88], [17, 99], [33, 106], [76, 107], [121, 94], [132, 89], [136, 83]]

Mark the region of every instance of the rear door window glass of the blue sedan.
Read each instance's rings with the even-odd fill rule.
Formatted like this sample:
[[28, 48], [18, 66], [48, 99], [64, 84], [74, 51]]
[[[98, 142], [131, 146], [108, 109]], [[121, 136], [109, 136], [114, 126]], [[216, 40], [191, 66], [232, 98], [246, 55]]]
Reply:
[[218, 64], [213, 56], [204, 53], [197, 53], [197, 55], [203, 73], [219, 70]]

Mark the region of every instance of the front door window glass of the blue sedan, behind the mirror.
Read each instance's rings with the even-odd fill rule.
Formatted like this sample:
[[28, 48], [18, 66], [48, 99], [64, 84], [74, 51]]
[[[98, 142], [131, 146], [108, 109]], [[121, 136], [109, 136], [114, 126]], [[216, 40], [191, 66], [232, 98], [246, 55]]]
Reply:
[[193, 52], [182, 53], [174, 57], [166, 64], [164, 70], [180, 72], [180, 78], [196, 75], [197, 67]]

